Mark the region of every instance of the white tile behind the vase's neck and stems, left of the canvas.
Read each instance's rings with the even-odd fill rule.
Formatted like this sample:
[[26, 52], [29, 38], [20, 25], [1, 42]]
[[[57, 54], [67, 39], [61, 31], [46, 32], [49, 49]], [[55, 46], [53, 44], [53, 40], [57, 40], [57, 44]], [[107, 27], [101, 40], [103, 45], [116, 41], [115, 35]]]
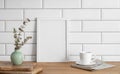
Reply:
[[[7, 44], [6, 53], [11, 55], [14, 51], [14, 44]], [[21, 49], [24, 55], [35, 55], [36, 54], [36, 45], [35, 44], [25, 44]]]

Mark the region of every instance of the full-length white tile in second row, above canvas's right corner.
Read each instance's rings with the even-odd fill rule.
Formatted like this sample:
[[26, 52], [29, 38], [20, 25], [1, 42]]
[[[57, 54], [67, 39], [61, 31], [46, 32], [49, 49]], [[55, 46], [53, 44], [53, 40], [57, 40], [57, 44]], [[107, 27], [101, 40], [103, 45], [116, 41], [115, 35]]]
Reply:
[[67, 19], [79, 20], [99, 20], [99, 9], [65, 9], [63, 10], [63, 17]]

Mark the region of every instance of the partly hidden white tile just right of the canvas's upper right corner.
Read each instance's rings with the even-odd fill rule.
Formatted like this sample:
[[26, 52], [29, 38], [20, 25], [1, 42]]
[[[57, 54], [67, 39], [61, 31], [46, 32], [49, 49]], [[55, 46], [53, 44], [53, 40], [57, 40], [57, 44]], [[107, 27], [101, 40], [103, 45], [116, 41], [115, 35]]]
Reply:
[[68, 31], [81, 31], [81, 21], [68, 21]]

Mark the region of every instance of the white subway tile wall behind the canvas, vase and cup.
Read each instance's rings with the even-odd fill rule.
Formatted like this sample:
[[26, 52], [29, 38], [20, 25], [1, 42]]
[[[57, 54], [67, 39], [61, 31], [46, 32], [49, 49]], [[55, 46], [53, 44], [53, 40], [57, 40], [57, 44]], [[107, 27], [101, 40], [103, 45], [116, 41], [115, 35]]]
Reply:
[[[36, 17], [66, 18], [68, 59], [78, 60], [80, 51], [91, 51], [104, 61], [119, 61], [120, 0], [0, 0], [0, 61], [10, 61], [14, 50], [12, 29], [30, 18], [23, 48], [25, 61], [36, 59]], [[24, 37], [25, 37], [24, 36]], [[54, 52], [53, 52], [54, 53]]]

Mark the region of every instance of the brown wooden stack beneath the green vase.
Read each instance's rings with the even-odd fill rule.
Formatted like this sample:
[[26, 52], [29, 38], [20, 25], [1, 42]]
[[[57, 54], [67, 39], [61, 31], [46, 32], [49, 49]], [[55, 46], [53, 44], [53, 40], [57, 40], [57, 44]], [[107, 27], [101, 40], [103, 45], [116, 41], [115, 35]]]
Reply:
[[10, 62], [0, 62], [0, 74], [38, 74], [42, 67], [36, 63], [23, 63], [15, 66]]

